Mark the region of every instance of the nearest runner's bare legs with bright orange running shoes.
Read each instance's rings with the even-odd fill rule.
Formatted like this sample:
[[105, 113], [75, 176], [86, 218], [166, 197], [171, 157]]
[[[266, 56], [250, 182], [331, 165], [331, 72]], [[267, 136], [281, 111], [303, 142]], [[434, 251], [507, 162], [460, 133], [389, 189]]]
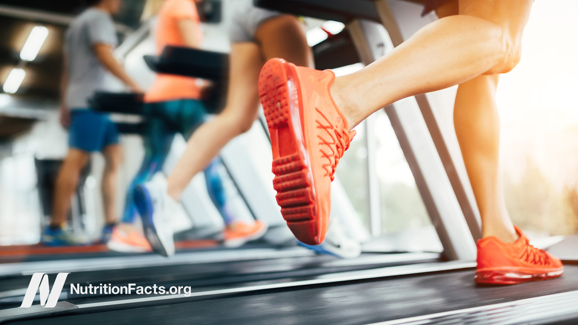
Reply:
[[259, 93], [273, 148], [281, 213], [297, 238], [322, 242], [330, 183], [351, 131], [399, 99], [459, 84], [454, 124], [480, 209], [476, 283], [516, 284], [557, 278], [561, 261], [529, 245], [507, 213], [499, 172], [500, 73], [516, 67], [533, 0], [426, 0], [440, 19], [384, 57], [350, 75], [275, 58]]

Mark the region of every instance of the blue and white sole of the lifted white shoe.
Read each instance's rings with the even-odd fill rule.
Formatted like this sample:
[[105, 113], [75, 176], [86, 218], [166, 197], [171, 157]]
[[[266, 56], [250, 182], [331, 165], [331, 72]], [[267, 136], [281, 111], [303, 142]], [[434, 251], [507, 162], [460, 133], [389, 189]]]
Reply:
[[135, 200], [136, 209], [142, 219], [144, 237], [149, 241], [151, 248], [153, 248], [153, 252], [168, 257], [169, 255], [166, 253], [166, 249], [162, 245], [161, 239], [158, 237], [157, 229], [154, 227], [154, 209], [151, 203], [152, 200], [150, 198], [149, 190], [142, 185], [137, 185], [134, 189], [133, 198]]

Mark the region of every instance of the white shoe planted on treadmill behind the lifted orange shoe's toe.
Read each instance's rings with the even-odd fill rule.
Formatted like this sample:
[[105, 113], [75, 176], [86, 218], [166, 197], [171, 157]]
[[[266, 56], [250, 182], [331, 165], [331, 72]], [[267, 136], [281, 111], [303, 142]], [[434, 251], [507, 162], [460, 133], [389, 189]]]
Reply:
[[325, 241], [319, 245], [299, 245], [314, 250], [318, 254], [329, 254], [340, 258], [355, 258], [361, 255], [361, 244], [347, 237], [339, 224], [330, 224]]

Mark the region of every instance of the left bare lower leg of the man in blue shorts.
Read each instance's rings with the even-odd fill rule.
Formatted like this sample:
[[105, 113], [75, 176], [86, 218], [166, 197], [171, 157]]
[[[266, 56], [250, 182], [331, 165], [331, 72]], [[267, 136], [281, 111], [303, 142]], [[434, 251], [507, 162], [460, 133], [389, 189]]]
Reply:
[[82, 150], [72, 148], [68, 150], [56, 179], [51, 226], [60, 227], [66, 222], [72, 194], [76, 191], [80, 171], [88, 162], [88, 157], [89, 153]]

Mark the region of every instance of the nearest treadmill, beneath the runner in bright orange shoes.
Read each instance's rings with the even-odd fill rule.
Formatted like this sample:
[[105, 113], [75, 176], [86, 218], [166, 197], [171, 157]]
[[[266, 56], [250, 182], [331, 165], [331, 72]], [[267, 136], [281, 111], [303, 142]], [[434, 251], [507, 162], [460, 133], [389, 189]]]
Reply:
[[[355, 2], [356, 5], [352, 6], [351, 2]], [[406, 8], [406, 3], [398, 0], [379, 0], [375, 3], [366, 0], [263, 0], [256, 1], [256, 3], [264, 8], [346, 23], [362, 60], [369, 60], [368, 53], [372, 52], [372, 47], [370, 47], [372, 43], [368, 40], [372, 40], [375, 35], [381, 35], [378, 24], [379, 15], [376, 12], [382, 13], [386, 10], [384, 16], [390, 19], [393, 17], [395, 21], [399, 16], [396, 10], [392, 10], [392, 7], [398, 8], [395, 5], [401, 3], [401, 8]], [[331, 16], [327, 16], [328, 14]], [[390, 28], [387, 30], [393, 39], [392, 31]], [[357, 36], [363, 38], [360, 39]], [[369, 51], [364, 54], [359, 50], [360, 45], [365, 46], [365, 49]], [[364, 61], [366, 62], [368, 61]], [[0, 306], [2, 308], [0, 309], [0, 322], [12, 324], [139, 322], [144, 324], [327, 323], [360, 325], [578, 323], [578, 265], [575, 265], [578, 258], [576, 256], [566, 256], [565, 274], [558, 279], [516, 286], [475, 286], [473, 275], [476, 264], [473, 242], [478, 237], [476, 231], [479, 234], [479, 226], [475, 224], [476, 213], [472, 212], [468, 219], [467, 212], [464, 212], [467, 202], [460, 199], [460, 194], [453, 194], [453, 198], [450, 195], [451, 200], [437, 195], [438, 193], [454, 193], [460, 185], [457, 181], [461, 182], [461, 180], [451, 179], [457, 175], [457, 173], [448, 172], [451, 168], [447, 167], [446, 159], [451, 156], [440, 157], [443, 156], [443, 147], [438, 142], [443, 141], [443, 138], [432, 139], [436, 138], [433, 132], [435, 125], [432, 124], [432, 120], [424, 121], [428, 119], [424, 113], [427, 113], [427, 110], [422, 109], [427, 102], [418, 103], [418, 99], [399, 103], [399, 105], [405, 104], [403, 109], [410, 110], [413, 115], [409, 113], [403, 115], [402, 106], [395, 107], [395, 105], [386, 108], [386, 112], [390, 116], [406, 158], [412, 167], [429, 215], [436, 224], [436, 230], [444, 247], [443, 258], [436, 261], [424, 260], [423, 263], [418, 264], [324, 274], [285, 274], [277, 278], [261, 279], [242, 278], [243, 275], [241, 275], [237, 278], [238, 280], [228, 280], [228, 275], [217, 272], [217, 276], [211, 278], [212, 281], [201, 283], [203, 279], [199, 280], [198, 285], [194, 286], [188, 296], [184, 294], [134, 294], [73, 297], [71, 295], [66, 298], [61, 296], [55, 308], [42, 308], [38, 302], [30, 308], [17, 308], [16, 305], [21, 302], [20, 298], [15, 301], [16, 304], [12, 305], [14, 308]], [[418, 106], [418, 104], [421, 105]], [[421, 129], [416, 128], [416, 125], [412, 125], [413, 128], [407, 125], [412, 121], [410, 118], [417, 118], [416, 116], [419, 117], [418, 120], [424, 121]], [[429, 142], [428, 136], [424, 134], [429, 136]], [[421, 143], [422, 149], [424, 143], [429, 145], [425, 147], [433, 148], [435, 155], [432, 154], [432, 150], [421, 152], [413, 150], [416, 143]], [[430, 159], [437, 157], [437, 160], [429, 161], [429, 164], [435, 166], [435, 161], [439, 164], [436, 168], [423, 169], [424, 157]], [[444, 161], [443, 164], [442, 161]], [[436, 184], [434, 180], [438, 183]], [[462, 187], [466, 188], [463, 184]], [[467, 193], [464, 195], [468, 198]], [[471, 209], [475, 211], [474, 208]], [[454, 221], [455, 223], [452, 224]], [[575, 242], [575, 240], [565, 240], [555, 246], [564, 252], [569, 252], [568, 255], [572, 255], [572, 252], [576, 252], [573, 246]], [[346, 260], [334, 260], [334, 263], [336, 262], [350, 263]], [[236, 268], [236, 271], [238, 270]], [[264, 273], [259, 272], [259, 274]], [[233, 275], [235, 276], [239, 274]], [[17, 276], [14, 276], [14, 279], [16, 278]], [[29, 278], [28, 275], [24, 280], [20, 279], [21, 285], [22, 283], [25, 285]], [[51, 279], [54, 279], [53, 275]], [[157, 279], [156, 275], [151, 275], [151, 282]], [[158, 280], [156, 284], [172, 283], [175, 285], [181, 279], [173, 281], [173, 279], [165, 278]], [[217, 279], [221, 282], [215, 282]], [[91, 279], [91, 281], [98, 282], [98, 279]], [[139, 279], [139, 281], [144, 280]], [[187, 281], [190, 283], [192, 279], [183, 280], [183, 283]], [[128, 282], [121, 280], [120, 283]], [[85, 284], [79, 283], [79, 285]], [[5, 306], [10, 307], [8, 304]]]

